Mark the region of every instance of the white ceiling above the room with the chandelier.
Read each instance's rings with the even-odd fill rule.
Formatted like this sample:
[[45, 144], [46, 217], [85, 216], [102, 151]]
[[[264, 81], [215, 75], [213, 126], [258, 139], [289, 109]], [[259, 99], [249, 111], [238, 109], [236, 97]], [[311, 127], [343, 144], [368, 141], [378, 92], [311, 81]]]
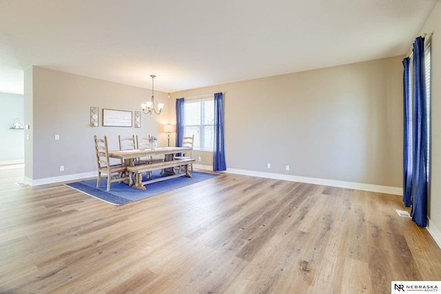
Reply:
[[0, 0], [0, 91], [32, 65], [174, 92], [398, 56], [437, 1]]

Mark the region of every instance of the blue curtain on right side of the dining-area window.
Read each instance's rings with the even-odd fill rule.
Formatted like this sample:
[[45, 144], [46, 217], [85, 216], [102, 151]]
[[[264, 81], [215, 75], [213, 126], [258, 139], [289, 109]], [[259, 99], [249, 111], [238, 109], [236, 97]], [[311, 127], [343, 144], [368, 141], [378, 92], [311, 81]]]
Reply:
[[223, 94], [214, 94], [214, 153], [213, 170], [227, 170], [223, 137]]

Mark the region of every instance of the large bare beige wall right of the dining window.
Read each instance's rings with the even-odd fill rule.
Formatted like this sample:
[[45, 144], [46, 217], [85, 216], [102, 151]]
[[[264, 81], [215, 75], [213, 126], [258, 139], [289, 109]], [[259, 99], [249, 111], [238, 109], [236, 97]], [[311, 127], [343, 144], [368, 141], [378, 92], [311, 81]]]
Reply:
[[172, 98], [226, 92], [229, 169], [401, 188], [401, 61], [234, 82]]

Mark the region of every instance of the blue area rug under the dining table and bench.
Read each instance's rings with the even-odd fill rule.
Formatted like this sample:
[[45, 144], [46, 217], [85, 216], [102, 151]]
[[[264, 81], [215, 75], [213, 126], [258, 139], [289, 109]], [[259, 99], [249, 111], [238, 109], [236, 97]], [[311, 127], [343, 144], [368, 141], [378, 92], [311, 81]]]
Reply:
[[[174, 189], [182, 188], [187, 185], [192, 185], [200, 181], [212, 179], [213, 177], [218, 176], [218, 174], [211, 174], [208, 172], [190, 172], [190, 173], [193, 176], [192, 178], [187, 178], [185, 176], [176, 177], [173, 179], [167, 179], [165, 181], [158, 181], [156, 183], [147, 184], [145, 185], [145, 188], [147, 188], [147, 190], [139, 190], [136, 188], [132, 188], [125, 183], [110, 183], [110, 191], [106, 191], [107, 179], [101, 179], [99, 188], [96, 188], [96, 179], [88, 180], [88, 181], [79, 181], [76, 183], [68, 183], [65, 185], [69, 186], [70, 188], [74, 188], [75, 190], [79, 190], [80, 192], [88, 194], [92, 197], [95, 197], [96, 199], [105, 201], [107, 203], [111, 203], [113, 205], [123, 205], [133, 201], [145, 199], [150, 196], [168, 192]], [[158, 170], [153, 172], [151, 179], [156, 179], [158, 177], [167, 177], [167, 176], [161, 176]]]

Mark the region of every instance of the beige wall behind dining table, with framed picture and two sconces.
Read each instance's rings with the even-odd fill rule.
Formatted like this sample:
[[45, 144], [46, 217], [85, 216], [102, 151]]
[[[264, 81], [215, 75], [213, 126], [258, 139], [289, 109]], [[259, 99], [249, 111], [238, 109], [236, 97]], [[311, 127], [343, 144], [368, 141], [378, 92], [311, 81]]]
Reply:
[[[28, 158], [25, 177], [32, 181], [63, 180], [72, 174], [96, 170], [93, 136], [107, 135], [110, 149], [118, 149], [118, 135], [155, 135], [159, 144], [167, 144], [167, 135], [161, 124], [167, 124], [167, 115], [141, 114], [141, 128], [101, 126], [102, 109], [141, 111], [141, 103], [150, 100], [151, 90], [106, 82], [60, 71], [32, 67], [25, 73], [25, 101], [32, 100], [32, 116], [26, 124], [30, 130], [25, 144]], [[167, 94], [155, 92], [155, 102], [167, 102]], [[100, 109], [100, 126], [90, 127], [90, 107]], [[25, 110], [26, 113], [28, 111]], [[54, 136], [59, 135], [59, 141]], [[60, 171], [64, 166], [64, 172]], [[60, 177], [60, 178], [59, 178]], [[44, 182], [43, 182], [44, 183]]]

